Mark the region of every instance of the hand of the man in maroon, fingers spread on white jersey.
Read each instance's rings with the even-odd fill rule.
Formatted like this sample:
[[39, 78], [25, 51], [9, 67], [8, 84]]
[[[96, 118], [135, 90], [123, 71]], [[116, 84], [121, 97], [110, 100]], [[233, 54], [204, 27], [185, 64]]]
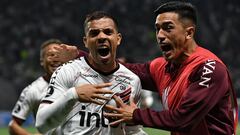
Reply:
[[133, 111], [137, 109], [137, 105], [134, 103], [133, 99], [130, 98], [130, 105], [127, 105], [124, 104], [118, 96], [114, 95], [113, 98], [118, 108], [111, 105], [105, 105], [105, 109], [109, 110], [109, 112], [104, 113], [105, 117], [111, 119], [110, 126], [116, 126], [121, 122], [133, 124]]

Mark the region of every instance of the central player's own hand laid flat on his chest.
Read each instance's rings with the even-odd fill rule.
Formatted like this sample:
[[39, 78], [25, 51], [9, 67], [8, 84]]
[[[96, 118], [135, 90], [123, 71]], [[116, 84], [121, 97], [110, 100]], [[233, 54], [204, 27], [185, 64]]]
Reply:
[[111, 85], [111, 83], [102, 83], [96, 85], [84, 84], [75, 88], [80, 102], [91, 102], [102, 105], [104, 102], [101, 100], [110, 100], [110, 97], [106, 97], [104, 94], [113, 94], [113, 91], [104, 89]]

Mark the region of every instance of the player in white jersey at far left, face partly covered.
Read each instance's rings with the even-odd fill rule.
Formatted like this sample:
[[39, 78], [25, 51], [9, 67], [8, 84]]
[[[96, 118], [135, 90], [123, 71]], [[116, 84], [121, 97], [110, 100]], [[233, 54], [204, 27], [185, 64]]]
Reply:
[[[62, 42], [58, 39], [49, 39], [41, 45], [40, 65], [43, 67], [45, 74], [40, 76], [22, 91], [12, 111], [12, 120], [9, 123], [9, 133], [11, 135], [30, 134], [22, 127], [23, 122], [31, 113], [36, 117], [38, 106], [47, 92], [48, 83], [52, 73], [64, 62], [63, 60], [68, 61], [69, 57], [73, 55], [72, 52], [74, 51], [69, 50], [74, 49], [74, 46], [60, 46], [60, 44], [62, 44]], [[58, 52], [59, 49], [56, 49], [59, 47], [64, 48], [61, 50], [62, 52]], [[56, 52], [64, 55], [61, 57], [61, 62], [52, 59], [52, 57], [55, 57], [54, 55]]]

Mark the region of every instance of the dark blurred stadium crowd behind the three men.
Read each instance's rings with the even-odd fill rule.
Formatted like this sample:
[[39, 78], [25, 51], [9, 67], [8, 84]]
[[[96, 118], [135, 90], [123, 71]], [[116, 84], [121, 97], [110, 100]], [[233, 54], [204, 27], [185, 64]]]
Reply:
[[[42, 73], [40, 44], [58, 38], [83, 48], [87, 13], [105, 10], [116, 17], [123, 42], [119, 57], [144, 62], [159, 55], [154, 14], [164, 0], [1, 0], [0, 1], [0, 126], [22, 89]], [[198, 43], [228, 66], [240, 97], [240, 2], [191, 0], [198, 9]], [[31, 120], [29, 122], [31, 124]]]

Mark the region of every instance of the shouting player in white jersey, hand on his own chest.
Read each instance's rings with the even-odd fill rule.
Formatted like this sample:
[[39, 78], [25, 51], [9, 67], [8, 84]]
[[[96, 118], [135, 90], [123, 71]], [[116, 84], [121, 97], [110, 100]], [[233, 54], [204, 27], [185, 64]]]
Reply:
[[125, 103], [130, 97], [138, 102], [140, 97], [140, 79], [115, 60], [122, 39], [116, 21], [105, 12], [93, 12], [86, 17], [84, 30], [89, 55], [54, 72], [39, 106], [36, 127], [45, 133], [60, 125], [61, 134], [67, 135], [145, 134], [140, 126], [110, 127], [102, 115], [106, 100], [114, 94]]

